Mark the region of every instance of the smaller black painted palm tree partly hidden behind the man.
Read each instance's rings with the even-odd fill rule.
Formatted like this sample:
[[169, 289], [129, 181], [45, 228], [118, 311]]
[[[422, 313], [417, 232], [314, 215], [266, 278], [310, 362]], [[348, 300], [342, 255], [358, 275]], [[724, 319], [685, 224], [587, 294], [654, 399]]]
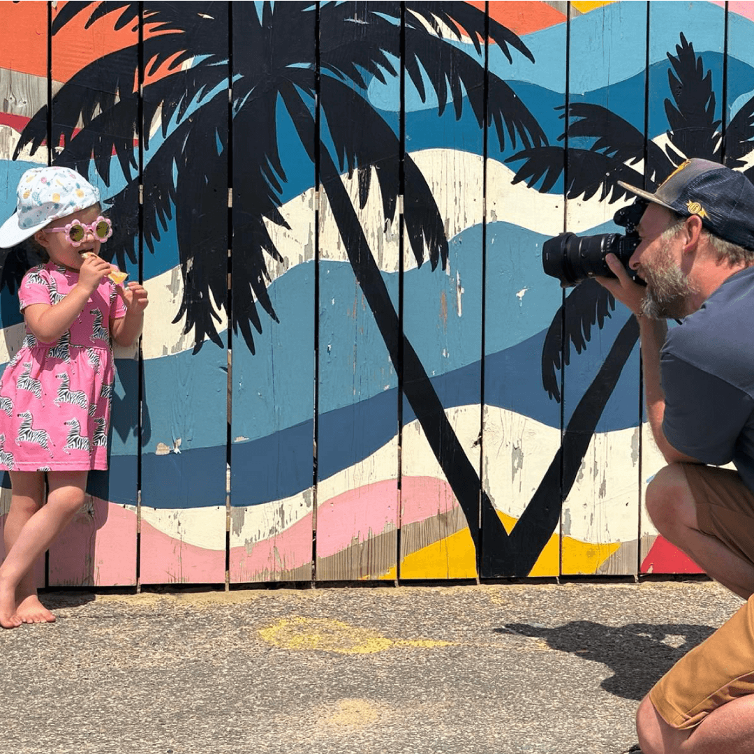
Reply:
[[[633, 198], [630, 192], [618, 185], [618, 181], [640, 186], [644, 185], [646, 177], [649, 190], [653, 190], [683, 161], [694, 157], [721, 162], [724, 157], [729, 167], [746, 166], [743, 158], [752, 151], [754, 139], [754, 98], [734, 115], [723, 138], [721, 122], [715, 118], [716, 97], [712, 74], [705, 72], [701, 55], [697, 56], [693, 45], [681, 34], [676, 54], [668, 52], [667, 58], [670, 61], [670, 97], [665, 99], [667, 143], [664, 148], [651, 139], [645, 139], [642, 131], [605, 107], [572, 103], [567, 113], [563, 113], [561, 117], [566, 119], [569, 138], [591, 141], [588, 148], [569, 146], [566, 150], [567, 198], [586, 200], [598, 192], [599, 199], [608, 203]], [[559, 109], [565, 110], [564, 107]], [[559, 140], [564, 140], [566, 133]], [[509, 163], [522, 161], [513, 182], [525, 181], [530, 188], [536, 187], [540, 192], [550, 191], [565, 170], [563, 149], [558, 146], [534, 146], [507, 159]], [[637, 169], [642, 161], [646, 176]], [[754, 179], [754, 167], [748, 167], [743, 172]], [[609, 317], [610, 311], [615, 309], [615, 299], [594, 280], [587, 280], [572, 290], [566, 306], [569, 316], [566, 317], [565, 326], [561, 307], [547, 331], [542, 349], [542, 384], [550, 397], [557, 401], [561, 400], [561, 396], [556, 372], [561, 369], [562, 362], [569, 363], [572, 349], [581, 353], [590, 340], [593, 326], [602, 328], [605, 317]], [[562, 499], [566, 498], [602, 410], [638, 338], [638, 326], [630, 317], [611, 346], [598, 375], [573, 412], [558, 452], [559, 457], [553, 459], [553, 464], [535, 492], [535, 498], [539, 495], [545, 498], [556, 495], [561, 485]], [[557, 476], [561, 463], [562, 481]], [[550, 525], [550, 534], [554, 530], [558, 514], [559, 509], [550, 510], [548, 525], [543, 527], [537, 540], [540, 547], [544, 547], [547, 541], [544, 537]], [[544, 517], [537, 523], [544, 524]], [[516, 526], [520, 524], [521, 521]], [[538, 544], [532, 541], [532, 551], [537, 549]], [[520, 567], [526, 569], [526, 558], [520, 561]]]

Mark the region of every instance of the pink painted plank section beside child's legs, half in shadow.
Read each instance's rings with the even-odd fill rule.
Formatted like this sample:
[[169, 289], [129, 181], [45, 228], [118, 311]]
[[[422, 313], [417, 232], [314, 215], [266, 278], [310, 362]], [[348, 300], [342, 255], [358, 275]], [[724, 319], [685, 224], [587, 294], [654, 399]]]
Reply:
[[51, 587], [136, 584], [136, 513], [93, 498], [50, 547]]

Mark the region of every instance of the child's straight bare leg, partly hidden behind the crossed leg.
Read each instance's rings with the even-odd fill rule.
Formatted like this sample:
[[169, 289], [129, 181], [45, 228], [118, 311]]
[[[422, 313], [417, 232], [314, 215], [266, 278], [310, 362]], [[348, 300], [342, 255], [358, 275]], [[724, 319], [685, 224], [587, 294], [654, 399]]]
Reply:
[[[3, 532], [6, 553], [11, 551], [21, 529], [44, 502], [44, 473], [11, 471], [11, 483], [11, 510]], [[55, 616], [39, 602], [33, 566], [16, 587], [16, 615], [23, 623], [51, 623], [55, 620]]]

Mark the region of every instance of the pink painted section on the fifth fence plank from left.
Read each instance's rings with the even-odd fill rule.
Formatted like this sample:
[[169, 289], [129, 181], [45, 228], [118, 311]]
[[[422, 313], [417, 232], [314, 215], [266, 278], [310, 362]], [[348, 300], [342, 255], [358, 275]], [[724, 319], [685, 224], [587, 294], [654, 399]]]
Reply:
[[385, 480], [351, 489], [317, 507], [317, 556], [326, 558], [398, 525], [398, 485]]

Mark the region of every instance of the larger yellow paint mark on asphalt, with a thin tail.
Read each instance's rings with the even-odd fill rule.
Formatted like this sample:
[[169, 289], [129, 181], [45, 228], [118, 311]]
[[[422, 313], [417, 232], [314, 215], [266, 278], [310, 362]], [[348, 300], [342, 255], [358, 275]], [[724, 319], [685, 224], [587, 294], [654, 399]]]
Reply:
[[434, 639], [390, 639], [376, 631], [350, 626], [331, 618], [303, 618], [294, 615], [259, 629], [259, 636], [280, 649], [319, 650], [339, 654], [375, 654], [394, 647], [431, 649], [453, 642]]

